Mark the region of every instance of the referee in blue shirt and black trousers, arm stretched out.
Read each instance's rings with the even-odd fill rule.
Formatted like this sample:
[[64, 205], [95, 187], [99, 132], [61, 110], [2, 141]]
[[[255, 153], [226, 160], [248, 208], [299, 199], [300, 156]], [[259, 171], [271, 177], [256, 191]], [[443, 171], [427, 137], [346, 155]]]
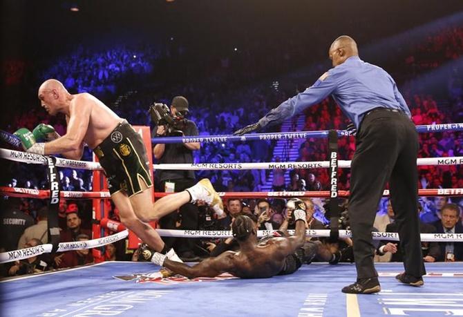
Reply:
[[357, 43], [343, 35], [330, 46], [333, 68], [302, 93], [272, 109], [257, 123], [236, 131], [242, 135], [283, 120], [332, 95], [357, 128], [351, 164], [349, 216], [357, 281], [344, 293], [369, 294], [381, 290], [373, 263], [372, 225], [386, 182], [404, 253], [405, 272], [396, 278], [421, 286], [424, 269], [417, 212], [417, 152], [419, 148], [410, 110], [395, 81], [385, 70], [359, 58]]

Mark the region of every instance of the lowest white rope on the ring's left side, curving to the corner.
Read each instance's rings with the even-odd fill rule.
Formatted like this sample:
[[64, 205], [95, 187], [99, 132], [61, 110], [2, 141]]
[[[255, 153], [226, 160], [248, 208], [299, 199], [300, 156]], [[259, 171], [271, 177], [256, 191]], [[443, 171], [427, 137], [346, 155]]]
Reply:
[[[81, 249], [93, 249], [97, 247], [102, 247], [106, 244], [125, 239], [127, 236], [129, 236], [129, 231], [124, 230], [124, 231], [115, 233], [111, 236], [93, 239], [93, 240], [61, 242], [59, 243], [57, 252], [81, 250]], [[53, 244], [40, 244], [40, 245], [37, 245], [36, 247], [3, 252], [3, 253], [0, 253], [0, 263], [12, 262], [16, 260], [23, 260], [26, 258], [31, 258], [32, 256], [39, 256], [40, 254], [43, 254], [43, 253], [50, 253], [52, 248], [53, 248]]]

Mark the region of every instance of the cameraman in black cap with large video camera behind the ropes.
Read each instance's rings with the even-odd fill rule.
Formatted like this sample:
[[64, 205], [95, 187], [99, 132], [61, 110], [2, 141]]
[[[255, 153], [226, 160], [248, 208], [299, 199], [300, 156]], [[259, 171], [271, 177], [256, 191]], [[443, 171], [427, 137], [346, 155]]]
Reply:
[[[154, 107], [159, 106], [155, 104]], [[164, 110], [167, 111], [167, 106]], [[158, 108], [159, 109], [159, 108]], [[162, 108], [161, 108], [162, 110]], [[166, 136], [196, 136], [198, 127], [187, 119], [188, 101], [185, 97], [177, 96], [172, 99], [170, 113], [154, 111], [151, 107], [151, 118], [156, 126], [153, 128], [153, 135], [156, 137]], [[199, 142], [155, 144], [153, 155], [159, 164], [193, 163], [193, 151], [200, 149]], [[159, 190], [166, 193], [177, 193], [196, 184], [194, 171], [158, 170], [155, 173], [158, 178]], [[198, 207], [194, 204], [183, 205], [178, 213], [171, 213], [159, 221], [162, 229], [197, 229]], [[182, 260], [194, 261], [198, 258], [193, 253], [195, 240], [187, 238], [163, 237], [167, 248], [173, 247]]]

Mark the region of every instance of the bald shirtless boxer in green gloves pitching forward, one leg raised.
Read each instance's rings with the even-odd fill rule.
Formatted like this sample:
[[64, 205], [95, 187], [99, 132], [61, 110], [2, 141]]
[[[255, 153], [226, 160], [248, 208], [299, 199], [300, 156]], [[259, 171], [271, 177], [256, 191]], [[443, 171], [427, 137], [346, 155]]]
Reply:
[[[38, 97], [50, 115], [66, 116], [66, 134], [39, 124], [31, 133], [20, 128], [19, 137], [28, 153], [62, 154], [79, 160], [88, 144], [97, 155], [108, 180], [111, 199], [122, 223], [156, 251], [166, 253], [164, 242], [147, 223], [159, 220], [187, 202], [204, 200], [216, 213], [223, 213], [222, 200], [209, 180], [200, 180], [186, 191], [168, 195], [153, 204], [149, 160], [142, 137], [132, 126], [89, 93], [71, 95], [56, 79], [41, 84]], [[48, 142], [37, 142], [44, 140]]]

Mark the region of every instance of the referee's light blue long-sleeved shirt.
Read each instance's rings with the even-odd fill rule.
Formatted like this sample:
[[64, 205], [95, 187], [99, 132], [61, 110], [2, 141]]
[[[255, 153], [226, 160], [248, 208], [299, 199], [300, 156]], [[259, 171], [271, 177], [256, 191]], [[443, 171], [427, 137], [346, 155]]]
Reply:
[[373, 108], [401, 110], [411, 116], [393, 77], [378, 66], [362, 61], [358, 56], [346, 59], [343, 64], [321, 75], [303, 93], [287, 99], [259, 120], [264, 127], [279, 124], [288, 117], [318, 104], [332, 95], [343, 113], [359, 128], [363, 116]]

